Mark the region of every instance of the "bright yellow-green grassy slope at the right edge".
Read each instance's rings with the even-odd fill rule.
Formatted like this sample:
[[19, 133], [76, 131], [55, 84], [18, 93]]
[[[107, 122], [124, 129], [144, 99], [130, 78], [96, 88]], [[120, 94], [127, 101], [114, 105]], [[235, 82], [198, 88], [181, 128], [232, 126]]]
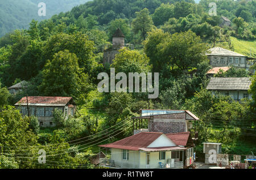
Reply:
[[[234, 51], [249, 57], [256, 58], [256, 40], [254, 41], [245, 41], [239, 40], [236, 37], [230, 37], [232, 44], [234, 45]], [[251, 50], [251, 55], [250, 55]]]

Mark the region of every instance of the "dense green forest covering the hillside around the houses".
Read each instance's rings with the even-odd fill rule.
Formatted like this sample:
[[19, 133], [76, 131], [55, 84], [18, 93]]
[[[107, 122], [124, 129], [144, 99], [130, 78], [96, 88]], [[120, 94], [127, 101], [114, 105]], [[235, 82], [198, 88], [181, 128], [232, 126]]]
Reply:
[[[212, 96], [205, 89], [205, 52], [213, 46], [234, 50], [232, 37], [255, 41], [256, 1], [214, 1], [217, 16], [208, 14], [209, 2], [94, 0], [0, 38], [0, 168], [95, 168], [90, 158], [97, 145], [131, 135], [130, 117], [145, 108], [191, 110], [200, 118], [198, 144], [221, 142], [224, 153], [255, 152], [256, 75], [235, 67], [216, 75], [251, 77], [253, 100]], [[230, 27], [219, 26], [221, 16]], [[121, 49], [112, 65], [103, 66], [103, 50], [118, 27], [135, 50]], [[110, 67], [116, 73], [159, 72], [159, 97], [99, 93], [97, 75], [110, 74]], [[10, 95], [6, 87], [22, 80], [26, 89]], [[72, 96], [79, 113], [65, 120], [56, 111], [57, 126], [40, 128], [35, 117], [13, 108], [26, 95]], [[36, 163], [42, 148], [47, 164]], [[199, 156], [201, 151], [198, 145]]]

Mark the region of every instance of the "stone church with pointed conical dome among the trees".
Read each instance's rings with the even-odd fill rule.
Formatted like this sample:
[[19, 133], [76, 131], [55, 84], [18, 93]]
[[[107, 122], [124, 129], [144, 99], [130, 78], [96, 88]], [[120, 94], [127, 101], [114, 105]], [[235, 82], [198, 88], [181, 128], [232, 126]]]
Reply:
[[115, 58], [115, 54], [118, 54], [118, 50], [125, 47], [125, 35], [120, 28], [115, 31], [112, 39], [112, 46], [106, 50], [104, 50], [103, 55], [103, 64], [106, 63], [112, 64], [113, 59]]

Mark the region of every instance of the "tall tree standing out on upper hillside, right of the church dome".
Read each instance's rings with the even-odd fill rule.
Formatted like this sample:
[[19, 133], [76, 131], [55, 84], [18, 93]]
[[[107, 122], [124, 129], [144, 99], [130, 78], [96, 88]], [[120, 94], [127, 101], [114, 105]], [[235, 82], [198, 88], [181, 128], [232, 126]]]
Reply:
[[141, 33], [143, 40], [146, 40], [147, 32], [150, 32], [154, 27], [151, 16], [149, 15], [149, 11], [147, 8], [139, 12], [135, 12], [136, 18], [131, 23], [133, 31], [135, 34]]

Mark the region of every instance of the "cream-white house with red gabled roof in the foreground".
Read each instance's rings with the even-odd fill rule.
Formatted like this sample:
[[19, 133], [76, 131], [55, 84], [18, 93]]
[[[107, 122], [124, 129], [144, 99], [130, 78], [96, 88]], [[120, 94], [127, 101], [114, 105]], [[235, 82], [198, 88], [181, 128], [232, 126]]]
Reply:
[[177, 168], [194, 161], [190, 132], [163, 134], [140, 132], [117, 142], [99, 145], [110, 149], [110, 158], [101, 158], [100, 166], [109, 168]]

